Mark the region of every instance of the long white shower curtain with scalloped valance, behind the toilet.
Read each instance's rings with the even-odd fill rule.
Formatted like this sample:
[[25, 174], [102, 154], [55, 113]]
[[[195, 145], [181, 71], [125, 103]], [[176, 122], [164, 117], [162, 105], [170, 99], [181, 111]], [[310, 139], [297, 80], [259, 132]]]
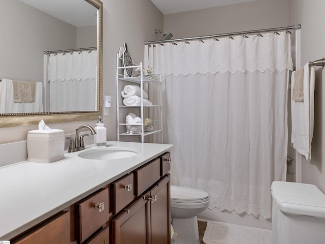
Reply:
[[164, 142], [173, 185], [208, 192], [210, 208], [271, 218], [285, 180], [290, 35], [150, 45], [163, 75]]

